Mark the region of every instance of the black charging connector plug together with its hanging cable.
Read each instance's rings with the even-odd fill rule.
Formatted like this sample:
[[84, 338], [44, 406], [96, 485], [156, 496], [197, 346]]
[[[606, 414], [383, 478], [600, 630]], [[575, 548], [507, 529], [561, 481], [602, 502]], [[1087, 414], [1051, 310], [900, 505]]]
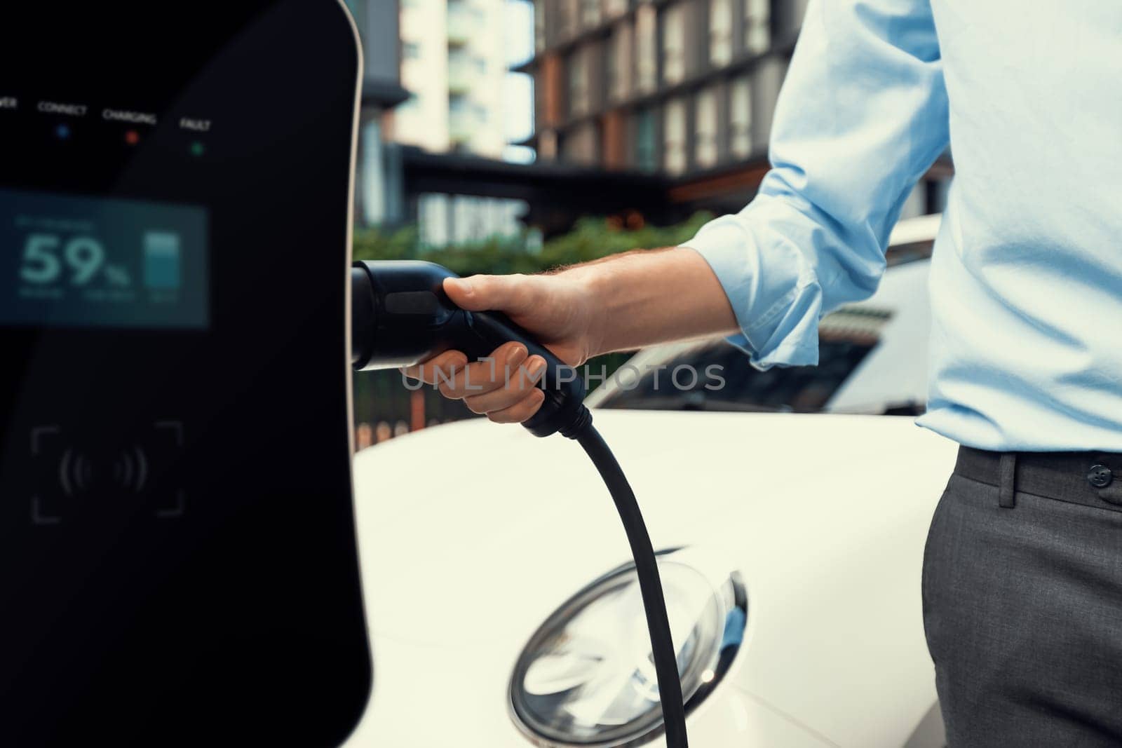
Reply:
[[499, 345], [518, 341], [546, 362], [537, 386], [545, 394], [537, 413], [523, 425], [536, 436], [560, 433], [576, 440], [592, 460], [615, 501], [631, 545], [669, 748], [687, 748], [686, 710], [678, 656], [666, 616], [654, 547], [635, 493], [611, 450], [592, 426], [583, 405], [585, 384], [532, 334], [499, 312], [469, 312], [444, 293], [457, 277], [420, 260], [360, 261], [351, 268], [351, 363], [357, 370], [413, 366], [448, 350], [484, 359]]

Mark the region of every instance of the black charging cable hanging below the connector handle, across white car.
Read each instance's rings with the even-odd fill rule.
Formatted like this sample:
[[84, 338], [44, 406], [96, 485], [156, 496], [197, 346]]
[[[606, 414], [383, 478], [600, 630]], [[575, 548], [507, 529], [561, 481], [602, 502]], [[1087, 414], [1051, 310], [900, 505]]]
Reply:
[[638, 501], [635, 500], [635, 492], [607, 442], [592, 426], [591, 414], [586, 424], [570, 438], [577, 440], [596, 465], [605, 486], [608, 487], [611, 500], [616, 504], [619, 519], [624, 523], [624, 532], [627, 533], [627, 543], [631, 545], [635, 572], [638, 575], [638, 590], [643, 595], [646, 629], [651, 635], [651, 654], [654, 657], [654, 672], [659, 677], [659, 701], [662, 703], [666, 746], [687, 748], [686, 707], [682, 703], [682, 683], [678, 676], [678, 654], [670, 634], [670, 619], [666, 616], [666, 600], [662, 594], [659, 563], [654, 555], [654, 546], [651, 545], [651, 536], [646, 532], [646, 523], [643, 521], [643, 515], [638, 509]]

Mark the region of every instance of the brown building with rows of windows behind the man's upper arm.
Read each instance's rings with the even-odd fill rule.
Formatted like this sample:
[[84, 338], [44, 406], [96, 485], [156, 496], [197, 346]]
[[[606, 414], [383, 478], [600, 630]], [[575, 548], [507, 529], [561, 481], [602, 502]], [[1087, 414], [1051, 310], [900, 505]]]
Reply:
[[[806, 0], [535, 0], [539, 159], [657, 174], [669, 201], [737, 210], [767, 169]], [[941, 210], [949, 163], [903, 215]]]

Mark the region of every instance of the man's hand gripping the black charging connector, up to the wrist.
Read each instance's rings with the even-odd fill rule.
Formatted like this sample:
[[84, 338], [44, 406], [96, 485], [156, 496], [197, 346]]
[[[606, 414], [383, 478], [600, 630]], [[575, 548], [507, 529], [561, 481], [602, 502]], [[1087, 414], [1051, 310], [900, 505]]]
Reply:
[[[470, 312], [503, 312], [576, 367], [594, 355], [598, 344], [591, 333], [590, 289], [581, 276], [573, 271], [448, 278], [444, 292]], [[537, 413], [544, 397], [535, 385], [545, 371], [545, 359], [526, 358], [526, 347], [515, 342], [500, 345], [490, 358], [469, 363], [460, 351], [445, 351], [405, 369], [405, 375], [438, 384], [445, 397], [462, 399], [473, 413], [496, 423], [522, 423]]]

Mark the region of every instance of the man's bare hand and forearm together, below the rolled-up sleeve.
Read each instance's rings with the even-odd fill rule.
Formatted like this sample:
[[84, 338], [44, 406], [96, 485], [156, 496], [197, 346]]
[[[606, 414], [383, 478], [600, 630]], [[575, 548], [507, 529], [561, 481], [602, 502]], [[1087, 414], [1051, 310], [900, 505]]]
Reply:
[[[684, 249], [627, 252], [549, 275], [449, 278], [444, 292], [465, 310], [505, 313], [572, 367], [609, 351], [737, 329], [709, 265]], [[544, 397], [534, 385], [545, 360], [527, 358], [514, 342], [490, 358], [469, 363], [460, 351], [445, 351], [405, 375], [498, 423], [537, 413]]]

